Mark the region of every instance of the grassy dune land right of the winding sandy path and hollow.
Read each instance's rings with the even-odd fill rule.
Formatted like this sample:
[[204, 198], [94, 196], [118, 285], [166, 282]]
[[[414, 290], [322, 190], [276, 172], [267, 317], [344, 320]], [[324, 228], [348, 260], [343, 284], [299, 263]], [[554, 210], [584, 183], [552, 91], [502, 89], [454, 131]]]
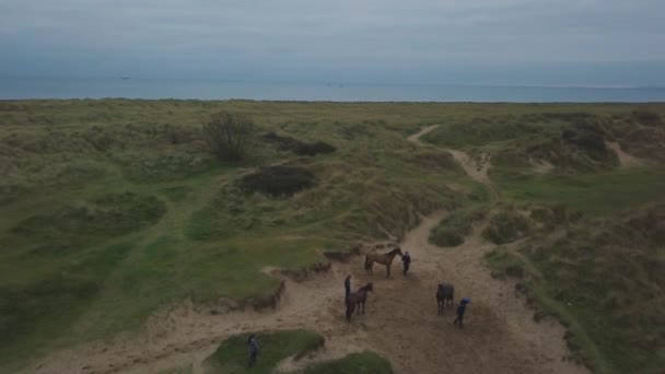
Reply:
[[[487, 237], [499, 244], [529, 237], [517, 250], [491, 253], [493, 272], [526, 278], [530, 299], [569, 326], [571, 349], [598, 372], [657, 371], [665, 365], [657, 348], [665, 342], [660, 327], [665, 319], [657, 312], [665, 302], [663, 218], [642, 213], [649, 218], [637, 226], [625, 221], [658, 211], [665, 201], [663, 124], [640, 124], [630, 114], [591, 115], [593, 109], [570, 116], [547, 112], [443, 126], [428, 140], [492, 155], [490, 176], [501, 206]], [[649, 141], [634, 137], [635, 129], [648, 131]], [[562, 137], [567, 130], [576, 132], [575, 141]], [[615, 155], [598, 147], [603, 138], [649, 156], [642, 166], [620, 168]], [[536, 173], [529, 159], [555, 168]], [[527, 211], [525, 218], [520, 210]], [[468, 210], [453, 212], [432, 239], [445, 242], [446, 231], [464, 231], [470, 222]]]

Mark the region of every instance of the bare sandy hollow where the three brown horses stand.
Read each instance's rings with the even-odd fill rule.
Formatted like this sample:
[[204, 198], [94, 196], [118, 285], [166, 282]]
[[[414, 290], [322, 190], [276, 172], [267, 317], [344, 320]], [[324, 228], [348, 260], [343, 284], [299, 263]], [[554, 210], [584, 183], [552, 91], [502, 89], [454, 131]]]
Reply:
[[[390, 279], [378, 265], [374, 276], [365, 274], [361, 257], [349, 265], [334, 264], [330, 271], [303, 282], [266, 268], [285, 287], [273, 311], [211, 313], [185, 303], [155, 315], [142, 331], [56, 352], [32, 372], [155, 373], [191, 365], [194, 373], [202, 373], [203, 360], [234, 334], [310, 328], [326, 338], [325, 349], [301, 362], [285, 360], [281, 369], [374, 350], [398, 373], [587, 373], [565, 359], [561, 325], [535, 323], [526, 302], [514, 295], [514, 284], [491, 278], [482, 256], [493, 245], [482, 241], [480, 227], [456, 248], [428, 243], [430, 230], [444, 214], [423, 218], [401, 243], [412, 257], [408, 277], [399, 271], [399, 257]], [[372, 281], [375, 290], [366, 315], [353, 316], [351, 324], [343, 307], [347, 273], [353, 276], [353, 289]], [[443, 281], [455, 285], [456, 300], [471, 299], [464, 329], [452, 324], [454, 306], [443, 316], [436, 314], [436, 284]]]

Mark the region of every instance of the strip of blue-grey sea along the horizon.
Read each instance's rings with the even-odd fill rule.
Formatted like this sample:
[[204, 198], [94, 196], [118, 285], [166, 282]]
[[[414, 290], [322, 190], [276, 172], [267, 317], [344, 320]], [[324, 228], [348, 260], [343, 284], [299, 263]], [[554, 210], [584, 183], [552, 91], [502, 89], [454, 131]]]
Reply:
[[665, 87], [254, 83], [215, 80], [0, 78], [0, 100], [195, 98], [331, 102], [665, 102]]

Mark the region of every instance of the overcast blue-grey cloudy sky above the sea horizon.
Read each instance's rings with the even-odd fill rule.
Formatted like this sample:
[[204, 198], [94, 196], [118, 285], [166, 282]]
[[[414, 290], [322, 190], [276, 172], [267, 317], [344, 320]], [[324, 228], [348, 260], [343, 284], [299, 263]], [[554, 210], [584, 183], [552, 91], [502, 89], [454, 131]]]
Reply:
[[0, 75], [665, 86], [663, 0], [0, 0]]

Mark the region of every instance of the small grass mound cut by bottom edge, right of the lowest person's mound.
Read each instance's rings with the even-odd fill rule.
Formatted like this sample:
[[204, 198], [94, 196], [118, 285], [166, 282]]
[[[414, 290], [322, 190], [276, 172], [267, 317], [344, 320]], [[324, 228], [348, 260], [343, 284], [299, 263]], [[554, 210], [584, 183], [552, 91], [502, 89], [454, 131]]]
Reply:
[[374, 352], [351, 353], [346, 357], [310, 365], [303, 370], [304, 374], [390, 374], [390, 362]]

